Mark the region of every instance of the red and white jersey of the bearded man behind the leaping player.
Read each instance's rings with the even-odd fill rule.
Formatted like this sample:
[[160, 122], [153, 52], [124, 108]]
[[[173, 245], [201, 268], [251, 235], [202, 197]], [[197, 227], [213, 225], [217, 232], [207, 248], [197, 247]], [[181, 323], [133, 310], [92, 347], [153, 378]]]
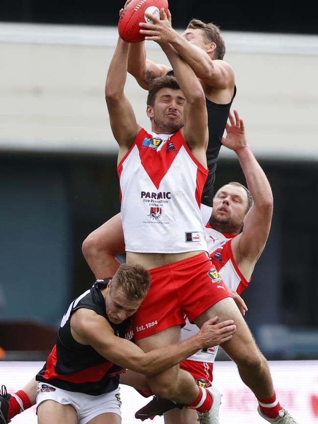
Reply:
[[[213, 265], [226, 286], [230, 287], [232, 290], [236, 290], [238, 294], [241, 294], [242, 291], [249, 285], [250, 281], [247, 281], [244, 278], [234, 260], [231, 248], [231, 241], [234, 237], [236, 236], [233, 234], [220, 233], [219, 231], [214, 230], [209, 224], [205, 227], [206, 243]], [[190, 324], [189, 320], [186, 319], [186, 324], [181, 331], [182, 340], [185, 340], [198, 332], [198, 327], [195, 324]], [[202, 349], [188, 359], [213, 363], [217, 351], [218, 346], [214, 346], [209, 349]]]

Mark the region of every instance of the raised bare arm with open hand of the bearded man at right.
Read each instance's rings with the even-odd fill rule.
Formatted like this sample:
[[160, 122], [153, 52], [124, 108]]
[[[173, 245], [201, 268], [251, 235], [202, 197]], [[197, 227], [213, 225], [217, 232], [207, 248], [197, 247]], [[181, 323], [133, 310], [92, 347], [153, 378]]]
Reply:
[[266, 245], [273, 215], [273, 194], [264, 171], [250, 150], [243, 121], [236, 111], [234, 114], [235, 120], [231, 114], [229, 116], [231, 125], [227, 124], [227, 136], [222, 142], [238, 156], [253, 199], [242, 233], [231, 242], [234, 259], [243, 272], [244, 268], [253, 270]]

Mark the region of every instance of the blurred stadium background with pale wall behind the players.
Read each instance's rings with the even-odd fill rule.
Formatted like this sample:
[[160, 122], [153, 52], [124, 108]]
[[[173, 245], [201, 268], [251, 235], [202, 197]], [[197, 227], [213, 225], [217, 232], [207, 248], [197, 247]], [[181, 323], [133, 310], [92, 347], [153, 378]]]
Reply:
[[[290, 396], [284, 404], [297, 405], [290, 390], [305, 379], [306, 411], [299, 411], [318, 422], [317, 6], [264, 2], [256, 11], [254, 2], [196, 3], [170, 0], [173, 24], [182, 30], [193, 17], [220, 24], [236, 74], [233, 107], [274, 194], [270, 238], [244, 293], [246, 319], [266, 357], [286, 361], [273, 362], [280, 390]], [[12, 389], [41, 365], [21, 361], [45, 360], [69, 302], [94, 281], [83, 240], [119, 211], [104, 83], [120, 7], [96, 0], [1, 5], [0, 383]], [[147, 43], [147, 52], [167, 62], [156, 44]], [[126, 94], [148, 128], [146, 92], [131, 76]], [[216, 188], [229, 180], [244, 183], [237, 159], [221, 149]], [[227, 358], [221, 352], [219, 359]], [[217, 383], [225, 393], [232, 386], [229, 414], [244, 417], [249, 406], [237, 402], [236, 371], [228, 362], [218, 366]]]

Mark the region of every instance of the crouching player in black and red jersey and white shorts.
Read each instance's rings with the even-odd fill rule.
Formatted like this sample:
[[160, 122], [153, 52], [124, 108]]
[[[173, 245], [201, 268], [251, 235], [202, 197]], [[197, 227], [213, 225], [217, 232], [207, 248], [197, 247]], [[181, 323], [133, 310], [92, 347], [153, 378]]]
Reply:
[[123, 264], [113, 278], [97, 280], [70, 304], [56, 345], [36, 376], [38, 423], [120, 424], [119, 374], [126, 368], [156, 374], [235, 332], [232, 320], [213, 318], [194, 337], [144, 353], [128, 338], [130, 316], [149, 286], [147, 270]]

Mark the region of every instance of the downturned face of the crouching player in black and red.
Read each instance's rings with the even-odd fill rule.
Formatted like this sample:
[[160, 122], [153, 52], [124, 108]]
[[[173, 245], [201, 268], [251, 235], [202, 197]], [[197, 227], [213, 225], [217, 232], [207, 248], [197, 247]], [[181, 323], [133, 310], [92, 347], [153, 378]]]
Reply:
[[105, 299], [106, 313], [113, 324], [120, 324], [126, 318], [133, 315], [139, 308], [142, 299], [128, 299], [120, 287], [108, 283]]

